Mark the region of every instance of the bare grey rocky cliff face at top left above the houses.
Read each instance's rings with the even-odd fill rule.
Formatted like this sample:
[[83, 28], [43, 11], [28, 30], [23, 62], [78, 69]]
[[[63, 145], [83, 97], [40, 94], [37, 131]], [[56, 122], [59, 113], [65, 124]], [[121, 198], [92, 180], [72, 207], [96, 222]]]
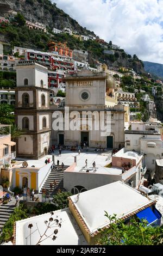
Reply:
[[80, 34], [95, 35], [48, 0], [0, 0], [0, 16], [7, 15], [10, 11], [17, 11], [23, 14], [26, 20], [41, 22], [50, 28], [69, 27]]

